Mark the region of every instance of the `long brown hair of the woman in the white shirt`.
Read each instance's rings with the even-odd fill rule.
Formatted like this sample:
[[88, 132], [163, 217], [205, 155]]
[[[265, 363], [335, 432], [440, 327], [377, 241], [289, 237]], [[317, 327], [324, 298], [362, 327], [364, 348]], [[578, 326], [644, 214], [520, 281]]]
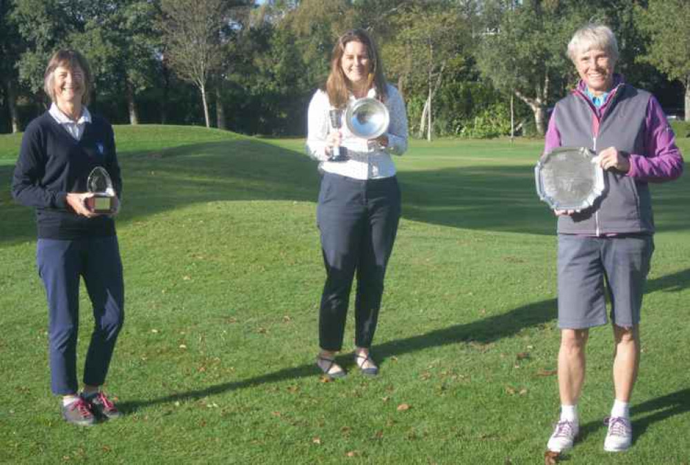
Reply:
[[367, 55], [369, 57], [367, 88], [372, 88], [373, 86], [376, 89], [376, 97], [381, 101], [387, 97], [386, 82], [385, 77], [383, 77], [383, 63], [381, 62], [381, 56], [378, 55], [378, 48], [376, 48], [374, 39], [365, 30], [352, 29], [338, 37], [338, 41], [331, 54], [331, 72], [328, 75], [325, 90], [331, 105], [336, 108], [347, 106], [349, 79], [345, 77], [341, 63], [345, 54], [345, 46], [352, 41], [360, 42], [367, 48]]

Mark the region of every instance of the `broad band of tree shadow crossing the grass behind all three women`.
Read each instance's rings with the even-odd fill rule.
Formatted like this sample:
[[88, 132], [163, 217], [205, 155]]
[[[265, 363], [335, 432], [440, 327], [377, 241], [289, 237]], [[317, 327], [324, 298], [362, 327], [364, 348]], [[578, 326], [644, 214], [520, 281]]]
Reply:
[[[316, 201], [316, 163], [300, 152], [256, 139], [123, 152], [126, 224], [190, 204], [233, 200]], [[461, 163], [461, 161], [459, 161]], [[35, 238], [32, 209], [15, 204], [13, 166], [0, 166], [0, 241]], [[403, 217], [475, 230], [553, 235], [555, 219], [537, 199], [531, 166], [458, 166], [399, 172]], [[687, 230], [690, 181], [653, 186], [660, 230]]]

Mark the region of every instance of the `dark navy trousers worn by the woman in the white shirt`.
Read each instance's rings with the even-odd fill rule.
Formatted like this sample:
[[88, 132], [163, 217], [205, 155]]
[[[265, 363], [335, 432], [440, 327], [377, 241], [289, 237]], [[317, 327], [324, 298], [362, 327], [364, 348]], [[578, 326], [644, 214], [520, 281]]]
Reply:
[[396, 177], [363, 181], [329, 172], [323, 175], [316, 209], [326, 267], [318, 324], [323, 350], [343, 347], [355, 272], [355, 344], [371, 346], [400, 215]]

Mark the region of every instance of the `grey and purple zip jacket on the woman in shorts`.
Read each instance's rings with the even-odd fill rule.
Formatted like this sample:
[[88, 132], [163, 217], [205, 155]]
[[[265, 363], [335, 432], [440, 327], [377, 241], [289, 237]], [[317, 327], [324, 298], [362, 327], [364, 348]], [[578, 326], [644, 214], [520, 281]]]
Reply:
[[630, 162], [629, 172], [604, 171], [606, 190], [600, 201], [582, 212], [559, 217], [558, 233], [654, 233], [648, 183], [679, 177], [683, 159], [653, 95], [615, 75], [613, 89], [597, 109], [581, 81], [571, 95], [556, 103], [548, 123], [544, 153], [557, 147], [586, 147], [597, 153], [615, 147]]

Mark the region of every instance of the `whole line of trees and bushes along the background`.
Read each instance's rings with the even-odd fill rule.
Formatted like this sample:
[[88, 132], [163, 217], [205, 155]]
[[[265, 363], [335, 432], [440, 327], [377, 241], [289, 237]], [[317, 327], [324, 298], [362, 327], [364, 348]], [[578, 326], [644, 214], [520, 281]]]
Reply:
[[614, 30], [627, 81], [690, 121], [687, 0], [0, 0], [0, 132], [46, 109], [44, 67], [69, 47], [113, 123], [303, 135], [335, 39], [365, 28], [414, 134], [542, 135], [588, 21]]

